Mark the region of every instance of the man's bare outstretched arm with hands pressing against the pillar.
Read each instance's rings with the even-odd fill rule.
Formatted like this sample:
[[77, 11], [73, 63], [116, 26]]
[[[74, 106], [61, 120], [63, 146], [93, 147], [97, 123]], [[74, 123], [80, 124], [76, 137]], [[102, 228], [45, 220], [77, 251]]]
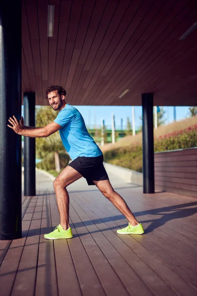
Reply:
[[15, 116], [13, 116], [13, 118], [9, 117], [8, 121], [11, 125], [8, 124], [7, 126], [13, 129], [15, 133], [31, 138], [48, 137], [62, 127], [54, 121], [50, 122], [45, 127], [26, 127], [22, 124], [21, 120], [18, 122]]

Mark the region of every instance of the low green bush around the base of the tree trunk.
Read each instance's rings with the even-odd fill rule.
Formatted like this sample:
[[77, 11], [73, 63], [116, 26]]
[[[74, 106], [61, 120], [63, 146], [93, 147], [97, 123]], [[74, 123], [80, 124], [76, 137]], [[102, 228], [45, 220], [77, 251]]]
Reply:
[[[59, 158], [60, 158], [60, 168], [63, 169], [68, 165], [69, 155], [66, 154], [65, 152], [60, 152]], [[44, 171], [55, 170], [54, 153], [53, 152], [49, 153], [46, 157], [42, 159], [42, 161], [36, 164], [36, 167]]]

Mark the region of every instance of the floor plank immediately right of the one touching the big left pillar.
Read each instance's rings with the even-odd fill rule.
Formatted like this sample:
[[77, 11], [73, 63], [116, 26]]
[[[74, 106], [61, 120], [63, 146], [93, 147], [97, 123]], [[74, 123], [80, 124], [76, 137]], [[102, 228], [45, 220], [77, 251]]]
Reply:
[[34, 295], [43, 197], [39, 196], [35, 206], [11, 296]]

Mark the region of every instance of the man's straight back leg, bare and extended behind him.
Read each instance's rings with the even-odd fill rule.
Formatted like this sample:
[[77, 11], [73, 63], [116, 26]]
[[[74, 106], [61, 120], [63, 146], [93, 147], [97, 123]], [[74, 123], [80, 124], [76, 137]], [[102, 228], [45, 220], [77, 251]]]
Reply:
[[139, 224], [124, 199], [116, 191], [114, 191], [109, 180], [93, 182], [99, 188], [100, 192], [127, 218], [132, 226]]

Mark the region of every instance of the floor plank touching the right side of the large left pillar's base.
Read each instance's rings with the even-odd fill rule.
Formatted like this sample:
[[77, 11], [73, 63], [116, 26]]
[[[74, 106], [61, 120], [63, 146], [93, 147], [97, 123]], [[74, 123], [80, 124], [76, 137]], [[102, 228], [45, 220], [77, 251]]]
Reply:
[[33, 208], [28, 208], [25, 213], [25, 220], [22, 222], [23, 237], [17, 240], [13, 240], [9, 250], [6, 253], [5, 258], [0, 267], [0, 295], [8, 296], [12, 291], [12, 286], [16, 277], [18, 266], [20, 263], [21, 255], [24, 249], [26, 238], [29, 232], [29, 228], [32, 222], [34, 209], [36, 206], [37, 197], [32, 198], [30, 206]]

